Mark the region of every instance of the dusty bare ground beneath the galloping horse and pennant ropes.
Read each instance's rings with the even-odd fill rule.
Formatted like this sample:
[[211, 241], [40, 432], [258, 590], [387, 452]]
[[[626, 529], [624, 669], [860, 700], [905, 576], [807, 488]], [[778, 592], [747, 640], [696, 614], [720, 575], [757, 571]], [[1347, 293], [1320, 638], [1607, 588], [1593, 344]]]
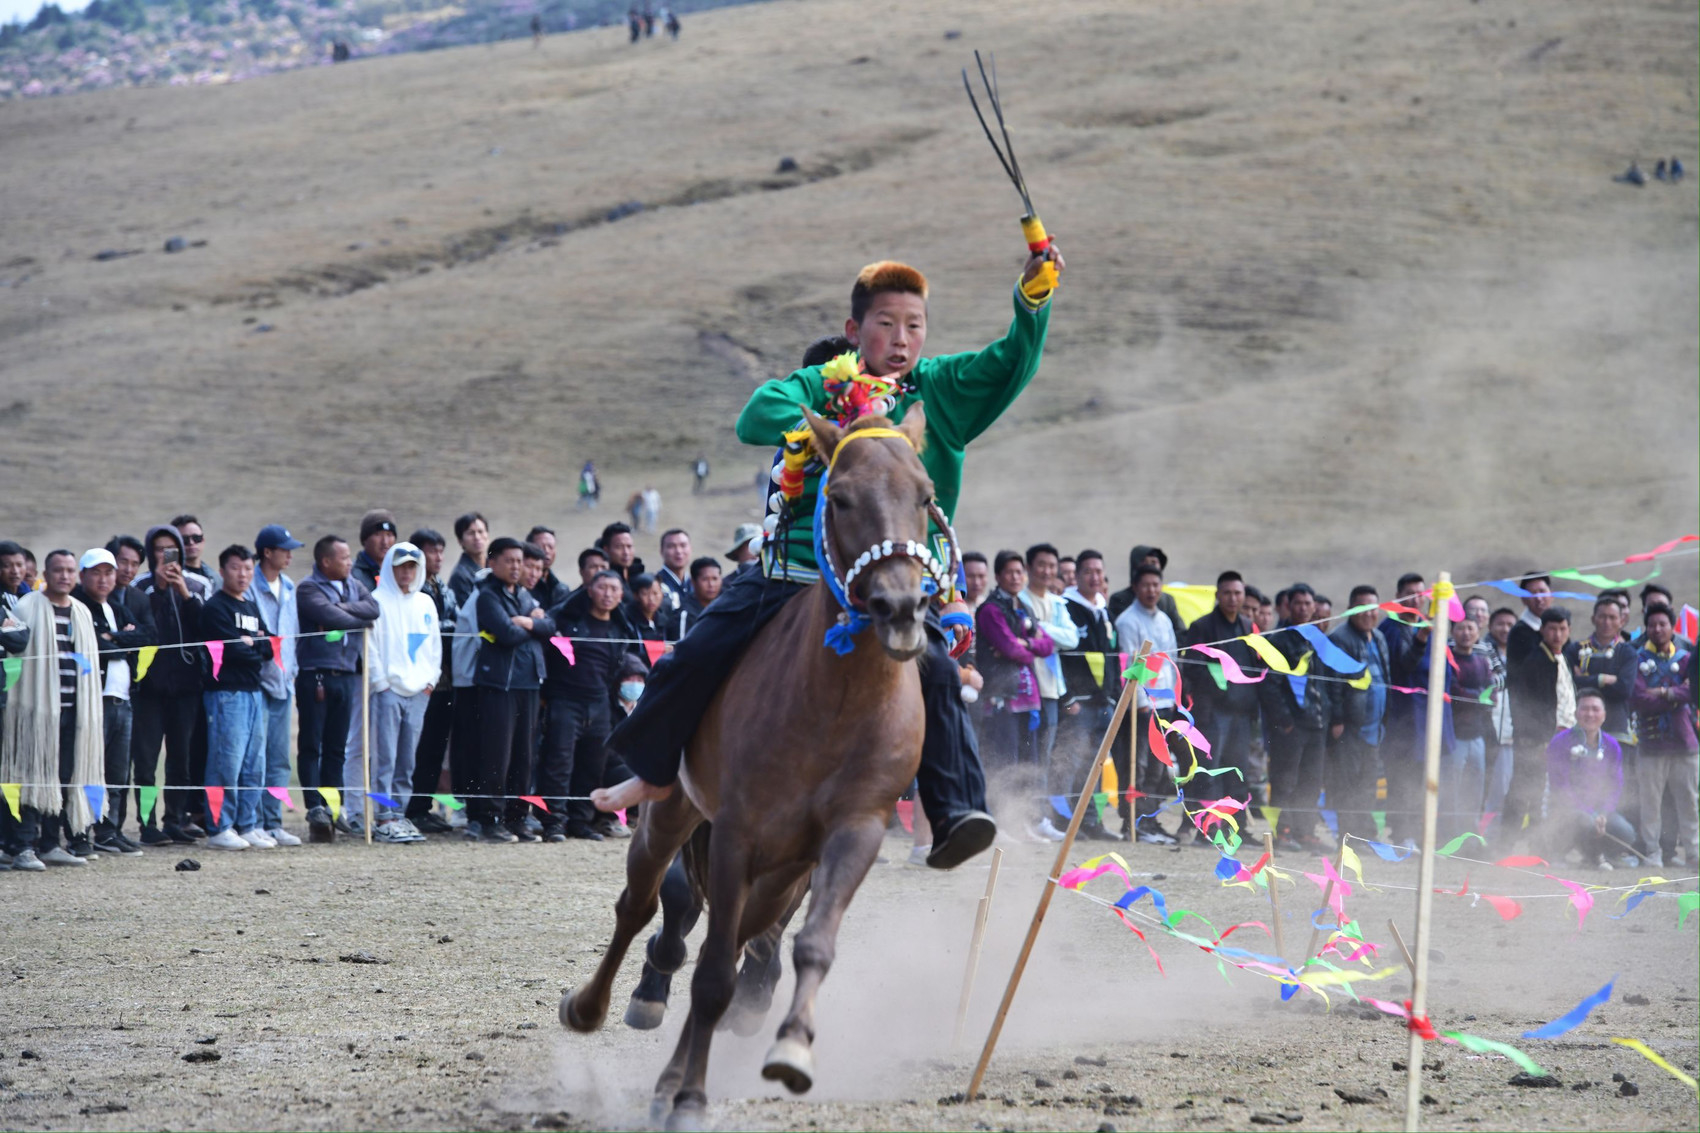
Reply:
[[[906, 844], [886, 854], [901, 861]], [[104, 859], [83, 871], [0, 874], [0, 1126], [5, 1128], [634, 1128], [677, 1036], [619, 1022], [576, 1036], [556, 1002], [595, 963], [612, 924], [622, 845], [364, 847], [221, 856], [175, 873], [178, 854]], [[1217, 927], [1268, 920], [1244, 890], [1217, 888], [1214, 854], [1130, 847], [1139, 878]], [[1289, 863], [1294, 864], [1294, 863]], [[969, 1017], [978, 1050], [1049, 851], [1013, 847], [994, 902]], [[1367, 863], [1409, 886], [1411, 866]], [[1311, 864], [1314, 869], [1314, 863]], [[1601, 880], [1600, 874], [1576, 874]], [[984, 869], [940, 876], [876, 868], [847, 920], [821, 999], [819, 1085], [782, 1099], [756, 1070], [770, 1031], [721, 1036], [711, 1090], [719, 1128], [1251, 1128], [1302, 1114], [1304, 1128], [1391, 1128], [1401, 1119], [1404, 1031], [1336, 997], [1280, 1004], [1263, 978], [1216, 973], [1153, 936], [1168, 976], [1098, 905], [1057, 895], [976, 1106], [967, 1050], [950, 1051], [972, 907]], [[1443, 863], [1457, 888], [1462, 866]], [[1622, 883], [1618, 874], [1618, 883]], [[1304, 898], [1287, 890], [1289, 949]], [[1110, 881], [1093, 883], [1114, 898]], [[1472, 868], [1472, 891], [1557, 891]], [[1353, 893], [1370, 939], [1409, 925], [1409, 891]], [[1656, 898], [1624, 920], [1612, 895], [1578, 934], [1562, 898], [1527, 900], [1501, 922], [1486, 905], [1436, 898], [1435, 1021], [1516, 1041], [1562, 1089], [1510, 1085], [1515, 1067], [1438, 1048], [1425, 1128], [1697, 1128], [1693, 1090], [1610, 1036], [1640, 1038], [1690, 1072], [1697, 1062], [1695, 924]], [[1260, 948], [1253, 944], [1253, 948]], [[1266, 948], [1266, 942], [1261, 944]], [[372, 953], [384, 965], [342, 963]], [[1394, 961], [1397, 963], [1397, 961]], [[789, 951], [787, 951], [789, 970]], [[687, 970], [688, 971], [688, 970]], [[1516, 1036], [1617, 975], [1610, 1004], [1569, 1036]], [[636, 983], [631, 961], [615, 1011]], [[789, 988], [789, 975], [780, 997]], [[1404, 978], [1360, 985], [1402, 999]], [[1644, 997], [1647, 1002], [1639, 1002]], [[1374, 1012], [1363, 1012], [1374, 1014]], [[777, 1022], [777, 1014], [772, 1017]], [[214, 1039], [202, 1043], [202, 1039]], [[22, 1051], [31, 1051], [24, 1055]], [[212, 1063], [184, 1055], [216, 1051]], [[1103, 1060], [1103, 1065], [1081, 1060]], [[1624, 1073], [1639, 1096], [1622, 1097]], [[1052, 1085], [1037, 1085], [1039, 1079]], [[1396, 1102], [1345, 1104], [1334, 1089]], [[1139, 1102], [1127, 1101], [1136, 1096]], [[1117, 1113], [1120, 1111], [1120, 1113]]]

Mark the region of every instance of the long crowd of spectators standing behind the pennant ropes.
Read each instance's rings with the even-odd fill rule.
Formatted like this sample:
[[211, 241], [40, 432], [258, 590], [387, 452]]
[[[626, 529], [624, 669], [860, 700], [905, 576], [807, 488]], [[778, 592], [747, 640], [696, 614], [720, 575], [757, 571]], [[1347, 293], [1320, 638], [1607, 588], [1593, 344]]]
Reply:
[[[367, 512], [354, 544], [318, 539], [299, 577], [306, 548], [286, 527], [209, 555], [194, 515], [39, 563], [0, 543], [0, 783], [15, 784], [0, 868], [275, 849], [299, 845], [298, 832], [333, 842], [367, 823], [386, 844], [626, 837], [620, 817], [588, 803], [627, 777], [609, 732], [714, 602], [722, 560], [750, 568], [760, 538], [743, 526], [724, 556], [697, 556], [668, 529], [651, 572], [615, 522], [568, 580], [551, 527], [491, 538], [478, 512], [452, 526], [452, 568], [447, 538], [401, 539], [388, 510]], [[1144, 641], [1164, 660], [1115, 738], [1114, 810], [1088, 813], [1086, 837], [1209, 845], [1187, 806], [1210, 796], [1238, 803], [1241, 835], [1266, 823], [1287, 851], [1326, 851], [1324, 834], [1420, 837], [1425, 580], [1401, 577], [1387, 602], [1353, 587], [1336, 618], [1302, 582], [1265, 594], [1229, 570], [1200, 601], [1166, 587], [1166, 566], [1163, 549], [1136, 546], [1112, 592], [1098, 551], [964, 555], [976, 621], [964, 697], [1005, 837], [1062, 837], [1054, 800], [1085, 788]], [[1579, 852], [1603, 869], [1695, 864], [1695, 648], [1669, 592], [1647, 584], [1630, 631], [1630, 595], [1605, 590], [1591, 631], [1572, 635], [1550, 578], [1522, 587], [1522, 611], [1472, 594], [1450, 626], [1442, 835]], [[1304, 675], [1272, 672], [1251, 635]], [[1168, 760], [1154, 750], [1164, 735]], [[1182, 805], [1175, 777], [1192, 759], [1232, 771]], [[296, 798], [304, 830], [291, 832]]]

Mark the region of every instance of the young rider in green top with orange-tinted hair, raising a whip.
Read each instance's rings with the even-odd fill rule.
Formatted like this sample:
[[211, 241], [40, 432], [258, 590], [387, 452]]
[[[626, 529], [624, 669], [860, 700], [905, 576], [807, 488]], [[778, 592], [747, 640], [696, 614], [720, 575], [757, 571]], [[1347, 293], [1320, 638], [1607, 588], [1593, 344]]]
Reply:
[[[1061, 269], [1054, 247], [1028, 259], [1015, 288], [1015, 318], [998, 342], [976, 352], [921, 357], [926, 279], [903, 264], [870, 264], [852, 288], [845, 337], [857, 347], [860, 373], [879, 381], [843, 381], [843, 362], [767, 381], [738, 415], [738, 439], [784, 446], [785, 434], [799, 427], [799, 405], [840, 420], [881, 413], [901, 422], [913, 403], [925, 401], [921, 464], [949, 519], [962, 492], [969, 441], [991, 427], [1039, 373]], [[870, 390], [877, 393], [869, 396]], [[775, 480], [780, 475], [775, 463]], [[595, 791], [600, 810], [620, 810], [673, 789], [685, 743], [738, 655], [790, 597], [819, 578], [813, 532], [818, 483], [819, 468], [811, 464], [802, 471], [801, 495], [787, 504], [780, 492], [774, 493], [758, 568], [733, 575], [695, 628], [656, 663], [638, 709], [609, 737], [609, 749], [636, 777]], [[921, 665], [926, 740], [918, 781], [933, 825], [926, 863], [949, 869], [986, 849], [996, 825], [986, 813], [986, 783], [957, 665], [935, 618], [928, 628], [930, 657]]]

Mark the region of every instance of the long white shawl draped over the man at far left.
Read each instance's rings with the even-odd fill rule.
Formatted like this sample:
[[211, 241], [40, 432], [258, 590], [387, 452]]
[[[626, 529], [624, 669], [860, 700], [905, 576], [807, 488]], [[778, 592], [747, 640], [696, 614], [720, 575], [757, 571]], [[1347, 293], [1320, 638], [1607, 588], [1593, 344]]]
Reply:
[[53, 626], [53, 602], [34, 590], [17, 602], [17, 618], [29, 626], [24, 670], [7, 696], [5, 750], [0, 781], [20, 783], [19, 805], [44, 815], [66, 810], [73, 832], [88, 828], [99, 815], [88, 805], [85, 786], [105, 786], [100, 704], [100, 643], [88, 609], [71, 602], [71, 645], [88, 658], [88, 670], [76, 674], [76, 762], [70, 791], [60, 789], [60, 655]]

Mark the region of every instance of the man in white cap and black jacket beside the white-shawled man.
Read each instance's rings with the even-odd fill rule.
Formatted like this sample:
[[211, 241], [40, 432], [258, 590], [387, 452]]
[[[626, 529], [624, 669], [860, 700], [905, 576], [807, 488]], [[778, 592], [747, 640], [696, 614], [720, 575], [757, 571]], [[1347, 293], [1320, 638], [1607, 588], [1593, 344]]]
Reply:
[[[129, 747], [133, 709], [129, 701], [134, 680], [136, 652], [153, 645], [153, 626], [138, 626], [136, 616], [117, 585], [117, 561], [110, 551], [85, 551], [76, 563], [82, 580], [71, 597], [88, 607], [100, 641], [100, 708], [102, 738], [105, 742], [105, 781], [129, 783]], [[141, 845], [124, 837], [126, 793], [122, 788], [107, 791], [107, 815], [95, 817], [94, 842], [107, 854], [134, 856]]]

